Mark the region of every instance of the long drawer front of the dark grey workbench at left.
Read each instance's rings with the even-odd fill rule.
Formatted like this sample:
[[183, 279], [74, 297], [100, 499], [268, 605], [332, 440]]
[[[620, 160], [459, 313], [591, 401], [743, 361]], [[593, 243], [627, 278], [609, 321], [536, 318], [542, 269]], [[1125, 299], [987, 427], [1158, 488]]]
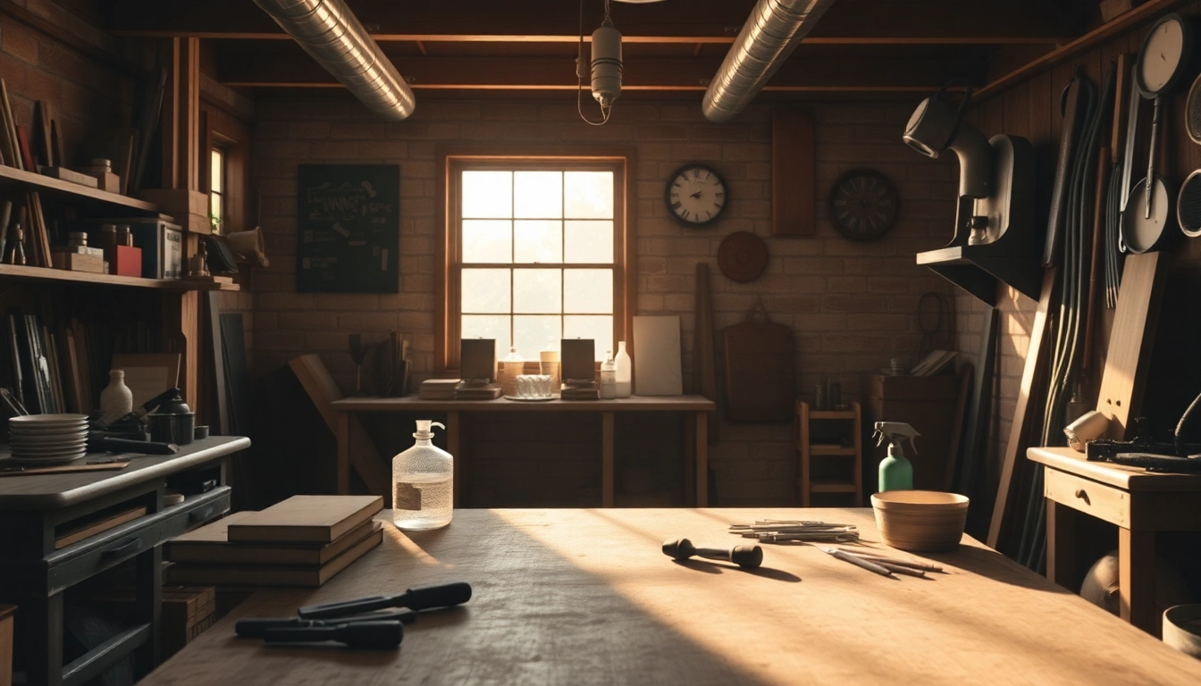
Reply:
[[229, 487], [215, 488], [56, 550], [44, 560], [48, 592], [71, 586], [228, 512], [231, 493]]

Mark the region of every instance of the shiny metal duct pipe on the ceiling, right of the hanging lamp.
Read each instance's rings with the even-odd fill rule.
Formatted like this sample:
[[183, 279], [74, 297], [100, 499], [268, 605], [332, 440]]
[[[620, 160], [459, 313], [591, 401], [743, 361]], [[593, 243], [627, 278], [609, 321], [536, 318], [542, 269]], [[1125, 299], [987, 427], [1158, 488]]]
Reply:
[[734, 119], [830, 5], [833, 0], [759, 0], [709, 82], [700, 105], [705, 117], [718, 124]]

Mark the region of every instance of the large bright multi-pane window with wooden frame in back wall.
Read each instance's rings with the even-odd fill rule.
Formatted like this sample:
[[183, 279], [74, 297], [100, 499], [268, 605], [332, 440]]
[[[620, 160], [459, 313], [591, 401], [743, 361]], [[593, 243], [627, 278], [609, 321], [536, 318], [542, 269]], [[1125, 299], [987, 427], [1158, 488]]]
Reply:
[[626, 339], [626, 159], [448, 159], [447, 366], [459, 339], [527, 360], [563, 338]]

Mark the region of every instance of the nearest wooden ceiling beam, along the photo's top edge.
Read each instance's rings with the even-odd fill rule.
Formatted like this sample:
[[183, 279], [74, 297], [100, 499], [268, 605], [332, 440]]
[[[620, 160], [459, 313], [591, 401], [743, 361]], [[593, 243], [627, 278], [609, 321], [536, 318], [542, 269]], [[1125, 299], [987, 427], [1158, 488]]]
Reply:
[[[534, 10], [545, 5], [544, 11]], [[593, 6], [594, 5], [594, 6]], [[730, 43], [753, 0], [689, 0], [614, 5], [613, 18], [627, 42]], [[585, 40], [599, 25], [590, 4]], [[352, 8], [372, 37], [386, 42], [576, 42], [576, 6], [558, 0], [520, 6], [495, 0], [357, 0]], [[594, 14], [594, 16], [592, 16]], [[214, 40], [289, 40], [255, 4], [245, 0], [163, 2], [115, 0], [118, 36]], [[841, 0], [806, 38], [815, 44], [1058, 44], [1083, 25], [1038, 0]]]

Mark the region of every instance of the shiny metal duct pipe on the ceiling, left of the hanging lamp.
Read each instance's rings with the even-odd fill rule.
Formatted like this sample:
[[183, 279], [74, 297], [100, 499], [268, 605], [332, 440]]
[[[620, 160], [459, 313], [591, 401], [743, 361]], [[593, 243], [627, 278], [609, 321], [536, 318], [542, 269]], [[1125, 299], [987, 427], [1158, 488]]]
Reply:
[[413, 91], [343, 0], [255, 2], [368, 109], [392, 120], [413, 113]]

